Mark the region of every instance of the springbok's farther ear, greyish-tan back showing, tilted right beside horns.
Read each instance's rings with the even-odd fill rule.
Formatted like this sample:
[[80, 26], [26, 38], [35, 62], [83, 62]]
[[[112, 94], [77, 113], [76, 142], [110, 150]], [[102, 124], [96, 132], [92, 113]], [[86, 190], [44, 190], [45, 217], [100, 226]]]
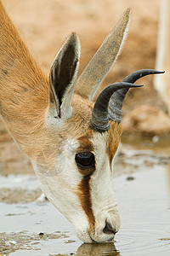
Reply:
[[75, 93], [93, 99], [122, 49], [129, 20], [130, 9], [127, 9], [77, 79]]

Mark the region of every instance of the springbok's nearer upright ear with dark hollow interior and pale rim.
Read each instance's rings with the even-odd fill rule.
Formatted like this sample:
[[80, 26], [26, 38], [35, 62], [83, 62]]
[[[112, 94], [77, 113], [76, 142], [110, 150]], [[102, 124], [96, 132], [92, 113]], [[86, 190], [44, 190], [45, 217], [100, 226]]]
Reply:
[[53, 115], [52, 117], [61, 119], [71, 117], [71, 101], [79, 59], [79, 39], [75, 33], [72, 33], [59, 50], [50, 70], [49, 113]]

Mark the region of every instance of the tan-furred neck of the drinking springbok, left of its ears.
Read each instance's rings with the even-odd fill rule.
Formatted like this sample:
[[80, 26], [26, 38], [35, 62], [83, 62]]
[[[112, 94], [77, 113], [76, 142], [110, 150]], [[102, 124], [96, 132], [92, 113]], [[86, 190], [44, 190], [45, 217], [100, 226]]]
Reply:
[[42, 130], [48, 107], [48, 79], [30, 55], [1, 2], [0, 56], [1, 114], [8, 131], [25, 150]]

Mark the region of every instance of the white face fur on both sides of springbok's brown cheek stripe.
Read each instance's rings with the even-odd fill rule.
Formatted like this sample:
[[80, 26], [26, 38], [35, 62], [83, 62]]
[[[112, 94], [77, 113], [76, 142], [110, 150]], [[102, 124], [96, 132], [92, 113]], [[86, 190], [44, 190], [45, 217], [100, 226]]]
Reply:
[[88, 218], [77, 195], [77, 186], [83, 177], [75, 162], [79, 143], [75, 139], [66, 141], [62, 153], [56, 157], [54, 171], [43, 172], [42, 168], [33, 163], [43, 193], [65, 218], [69, 219], [77, 236], [84, 242], [92, 242], [92, 239], [98, 242], [110, 241], [114, 238], [114, 235], [103, 233], [106, 219], [110, 219], [116, 231], [120, 227], [109, 157], [105, 153], [107, 139], [108, 132], [94, 132], [92, 139], [96, 157], [96, 170], [90, 178], [92, 208], [96, 222], [94, 232], [90, 230]]

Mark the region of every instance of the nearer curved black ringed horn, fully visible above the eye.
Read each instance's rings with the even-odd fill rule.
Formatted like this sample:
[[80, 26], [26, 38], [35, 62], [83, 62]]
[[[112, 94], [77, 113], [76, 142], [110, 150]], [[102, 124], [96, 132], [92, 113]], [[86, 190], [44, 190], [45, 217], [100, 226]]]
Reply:
[[92, 111], [91, 125], [96, 131], [106, 131], [110, 128], [109, 117], [108, 117], [108, 105], [111, 96], [116, 93], [117, 90], [128, 90], [130, 87], [141, 87], [143, 85], [130, 84], [127, 82], [120, 82], [116, 84], [108, 85], [102, 90], [94, 103]]

